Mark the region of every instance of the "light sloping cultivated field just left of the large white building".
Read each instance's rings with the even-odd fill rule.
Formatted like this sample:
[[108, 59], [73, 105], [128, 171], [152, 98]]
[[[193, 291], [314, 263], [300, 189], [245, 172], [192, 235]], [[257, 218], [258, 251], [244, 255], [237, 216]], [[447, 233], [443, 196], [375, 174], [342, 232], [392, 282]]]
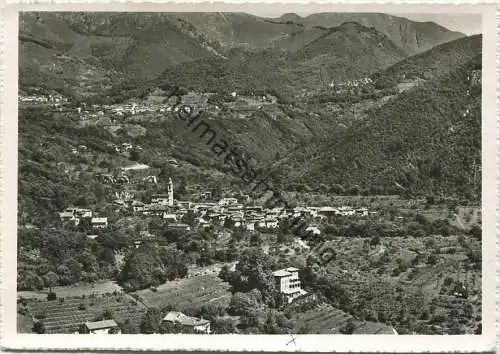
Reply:
[[169, 281], [160, 285], [156, 291], [151, 289], [137, 292], [147, 305], [157, 308], [172, 306], [183, 311], [198, 308], [207, 303], [229, 304], [231, 293], [229, 284], [214, 275], [201, 275], [192, 278]]

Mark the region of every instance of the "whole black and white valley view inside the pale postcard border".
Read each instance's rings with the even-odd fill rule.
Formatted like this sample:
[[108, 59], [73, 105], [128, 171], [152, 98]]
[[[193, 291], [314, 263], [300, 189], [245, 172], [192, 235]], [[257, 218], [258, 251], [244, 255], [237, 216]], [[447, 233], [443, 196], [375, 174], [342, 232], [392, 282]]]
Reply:
[[18, 13], [18, 334], [484, 333], [482, 14], [252, 9]]

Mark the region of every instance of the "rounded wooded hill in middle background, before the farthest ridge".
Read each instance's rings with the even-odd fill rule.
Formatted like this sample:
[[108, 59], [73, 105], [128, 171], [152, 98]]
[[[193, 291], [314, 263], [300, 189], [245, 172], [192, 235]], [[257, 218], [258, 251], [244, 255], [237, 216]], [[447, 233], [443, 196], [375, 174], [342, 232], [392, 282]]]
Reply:
[[300, 90], [321, 88], [319, 72], [335, 80], [364, 77], [405, 58], [385, 35], [355, 23], [323, 31], [303, 48], [247, 52], [232, 50], [228, 60], [202, 59], [195, 65], [167, 69], [160, 82], [189, 89], [268, 91], [296, 96]]

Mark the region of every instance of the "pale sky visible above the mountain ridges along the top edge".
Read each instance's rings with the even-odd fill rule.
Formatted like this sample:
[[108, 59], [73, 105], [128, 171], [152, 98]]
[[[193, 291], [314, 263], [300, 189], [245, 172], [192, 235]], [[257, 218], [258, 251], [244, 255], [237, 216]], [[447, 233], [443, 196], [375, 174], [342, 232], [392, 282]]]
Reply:
[[[262, 17], [280, 17], [284, 12], [270, 12], [270, 11], [248, 11], [254, 15]], [[311, 12], [296, 11], [300, 16], [310, 15]], [[417, 22], [435, 22], [443, 27], [452, 31], [462, 32], [466, 35], [472, 35], [482, 32], [482, 21], [480, 14], [466, 14], [466, 13], [390, 13], [394, 16], [406, 17], [409, 20]]]

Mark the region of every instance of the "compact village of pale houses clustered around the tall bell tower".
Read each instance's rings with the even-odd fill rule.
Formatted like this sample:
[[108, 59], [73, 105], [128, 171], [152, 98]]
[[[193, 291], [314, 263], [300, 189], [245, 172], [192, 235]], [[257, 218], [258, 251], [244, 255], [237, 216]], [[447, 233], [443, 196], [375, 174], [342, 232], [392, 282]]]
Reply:
[[[122, 179], [128, 181], [126, 176]], [[150, 176], [150, 179], [156, 180], [156, 177]], [[201, 195], [207, 200], [212, 199], [210, 191]], [[150, 203], [136, 200], [130, 193], [121, 193], [117, 196], [119, 198], [115, 200], [115, 203], [125, 210], [132, 211], [136, 215], [160, 217], [168, 223], [169, 228], [184, 231], [189, 231], [193, 227], [203, 229], [210, 226], [234, 227], [247, 231], [273, 230], [279, 228], [280, 221], [301, 218], [309, 222], [306, 231], [319, 235], [321, 234], [321, 223], [328, 217], [367, 217], [369, 215], [369, 211], [365, 207], [352, 208], [350, 206], [297, 206], [290, 209], [283, 207], [268, 209], [262, 205], [249, 203], [248, 195], [242, 195], [240, 198], [225, 197], [216, 202], [178, 201], [174, 200], [172, 179], [169, 179], [168, 193], [151, 195]], [[192, 216], [189, 219], [194, 220], [194, 223], [183, 222], [188, 214]], [[108, 218], [96, 216], [90, 209], [68, 207], [59, 213], [59, 217], [63, 223], [72, 223], [74, 226], [78, 226], [83, 219], [87, 219], [93, 229], [108, 227]]]

